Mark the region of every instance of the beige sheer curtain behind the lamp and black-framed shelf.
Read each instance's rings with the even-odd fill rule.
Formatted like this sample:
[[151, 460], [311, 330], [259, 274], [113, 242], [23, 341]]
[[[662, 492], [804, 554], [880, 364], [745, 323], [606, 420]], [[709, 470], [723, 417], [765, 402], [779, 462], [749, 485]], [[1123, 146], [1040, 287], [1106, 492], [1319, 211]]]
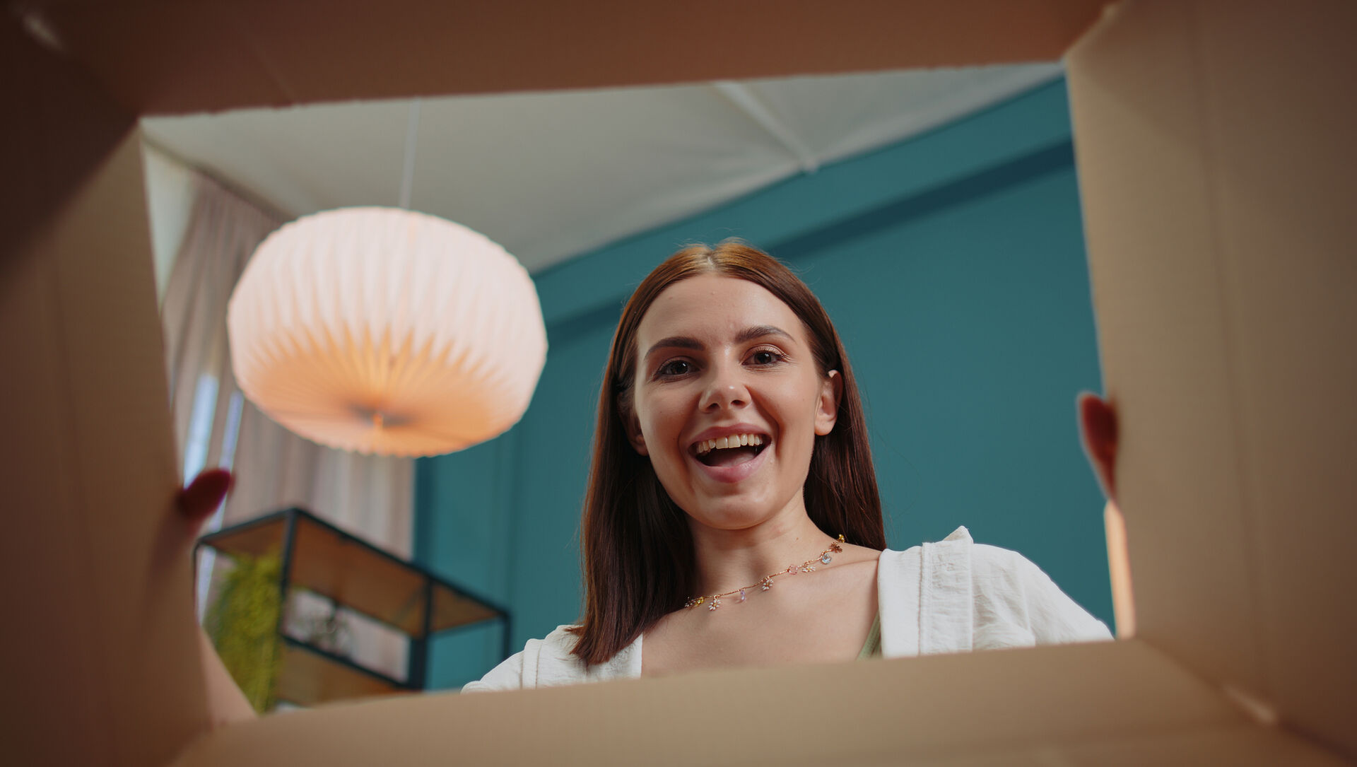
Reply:
[[[318, 445], [278, 426], [244, 400], [231, 369], [227, 301], [255, 247], [284, 217], [195, 174], [195, 200], [161, 307], [170, 406], [185, 478], [205, 467], [231, 468], [235, 490], [209, 529], [286, 506], [316, 516], [399, 557], [413, 532], [410, 459], [360, 456]], [[205, 601], [212, 558], [198, 581]], [[293, 603], [299, 624], [323, 604]], [[350, 626], [356, 657], [392, 676], [404, 673], [404, 642]]]

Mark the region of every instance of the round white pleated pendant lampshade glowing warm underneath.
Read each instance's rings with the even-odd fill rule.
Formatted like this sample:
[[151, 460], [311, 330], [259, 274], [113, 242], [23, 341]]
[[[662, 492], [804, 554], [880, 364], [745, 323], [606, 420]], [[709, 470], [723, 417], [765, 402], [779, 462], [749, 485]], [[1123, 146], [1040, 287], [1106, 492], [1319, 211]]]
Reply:
[[231, 296], [236, 381], [323, 445], [423, 456], [522, 417], [547, 357], [532, 278], [489, 238], [394, 208], [269, 235]]

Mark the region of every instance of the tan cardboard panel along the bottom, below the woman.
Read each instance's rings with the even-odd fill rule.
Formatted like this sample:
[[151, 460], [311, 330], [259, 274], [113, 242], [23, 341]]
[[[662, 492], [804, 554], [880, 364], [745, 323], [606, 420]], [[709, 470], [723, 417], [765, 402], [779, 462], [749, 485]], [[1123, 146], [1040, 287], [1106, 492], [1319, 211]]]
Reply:
[[1221, 729], [1263, 732], [1143, 642], [1106, 642], [338, 705], [229, 728], [179, 764], [1050, 764], [1092, 743]]

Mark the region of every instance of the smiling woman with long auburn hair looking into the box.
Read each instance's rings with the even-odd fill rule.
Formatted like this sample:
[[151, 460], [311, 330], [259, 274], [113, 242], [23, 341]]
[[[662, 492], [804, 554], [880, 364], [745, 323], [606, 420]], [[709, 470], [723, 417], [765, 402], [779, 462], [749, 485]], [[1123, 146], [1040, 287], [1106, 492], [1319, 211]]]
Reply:
[[740, 242], [676, 252], [627, 303], [581, 539], [581, 624], [463, 691], [1110, 638], [965, 528], [882, 551], [843, 343], [801, 280]]

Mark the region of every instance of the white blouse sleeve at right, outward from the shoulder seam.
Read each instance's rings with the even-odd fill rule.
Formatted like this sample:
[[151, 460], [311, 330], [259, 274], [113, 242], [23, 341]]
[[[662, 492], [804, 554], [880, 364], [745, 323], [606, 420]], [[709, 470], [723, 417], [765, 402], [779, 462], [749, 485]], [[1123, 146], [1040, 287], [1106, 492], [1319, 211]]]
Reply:
[[1030, 559], [977, 544], [974, 649], [1096, 642], [1111, 633]]

